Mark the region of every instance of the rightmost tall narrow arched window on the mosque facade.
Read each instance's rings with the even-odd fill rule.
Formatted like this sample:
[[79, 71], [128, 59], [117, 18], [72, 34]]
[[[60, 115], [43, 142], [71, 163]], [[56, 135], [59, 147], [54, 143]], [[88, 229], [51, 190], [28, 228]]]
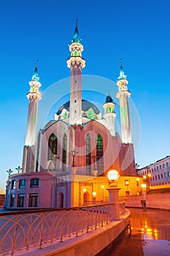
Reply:
[[96, 138], [96, 161], [98, 175], [101, 176], [104, 173], [104, 159], [103, 159], [103, 139], [101, 135], [97, 135]]

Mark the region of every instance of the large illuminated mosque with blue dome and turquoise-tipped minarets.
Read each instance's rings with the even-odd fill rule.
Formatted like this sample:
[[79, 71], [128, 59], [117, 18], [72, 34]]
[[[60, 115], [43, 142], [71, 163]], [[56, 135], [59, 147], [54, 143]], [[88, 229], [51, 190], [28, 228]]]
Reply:
[[[31, 78], [26, 143], [22, 173], [9, 176], [5, 208], [63, 208], [109, 201], [109, 170], [120, 175], [120, 195], [136, 195], [134, 146], [128, 108], [128, 80], [120, 61], [117, 95], [120, 101], [121, 138], [115, 131], [115, 102], [107, 95], [102, 116], [96, 105], [82, 99], [83, 45], [77, 29], [69, 45], [67, 67], [70, 100], [36, 134], [41, 86], [38, 63]], [[43, 100], [43, 99], [42, 99]]]

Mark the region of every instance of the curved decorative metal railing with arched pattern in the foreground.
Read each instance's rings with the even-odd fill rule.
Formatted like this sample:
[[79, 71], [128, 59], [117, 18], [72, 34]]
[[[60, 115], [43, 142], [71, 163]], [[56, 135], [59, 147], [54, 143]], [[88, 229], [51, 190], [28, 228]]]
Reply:
[[63, 241], [106, 225], [114, 208], [114, 204], [108, 203], [0, 214], [0, 255], [14, 255], [31, 246], [41, 249], [47, 242]]

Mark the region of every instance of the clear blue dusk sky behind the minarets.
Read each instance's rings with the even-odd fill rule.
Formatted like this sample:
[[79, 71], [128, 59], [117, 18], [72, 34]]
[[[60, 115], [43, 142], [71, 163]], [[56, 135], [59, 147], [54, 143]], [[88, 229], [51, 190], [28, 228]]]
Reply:
[[[26, 94], [36, 59], [42, 83], [39, 110], [45, 95], [56, 95], [45, 121], [69, 99], [69, 80], [63, 79], [69, 78], [66, 59], [76, 18], [85, 48], [82, 74], [90, 75], [88, 84], [82, 84], [88, 90], [83, 97], [93, 102], [95, 98], [102, 108], [109, 89], [118, 104], [114, 82], [122, 58], [131, 91], [136, 162], [144, 167], [170, 154], [169, 9], [169, 0], [1, 1], [0, 192], [4, 192], [7, 170], [22, 165]], [[119, 122], [118, 105], [116, 113]]]

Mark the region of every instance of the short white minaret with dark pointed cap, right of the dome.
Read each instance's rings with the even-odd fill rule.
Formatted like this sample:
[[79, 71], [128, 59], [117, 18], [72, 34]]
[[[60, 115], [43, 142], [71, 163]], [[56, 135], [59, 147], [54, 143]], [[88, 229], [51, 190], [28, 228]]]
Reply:
[[107, 123], [107, 128], [109, 129], [109, 132], [112, 136], [115, 136], [115, 103], [113, 102], [112, 97], [107, 95], [106, 101], [103, 105], [104, 107], [104, 119]]

